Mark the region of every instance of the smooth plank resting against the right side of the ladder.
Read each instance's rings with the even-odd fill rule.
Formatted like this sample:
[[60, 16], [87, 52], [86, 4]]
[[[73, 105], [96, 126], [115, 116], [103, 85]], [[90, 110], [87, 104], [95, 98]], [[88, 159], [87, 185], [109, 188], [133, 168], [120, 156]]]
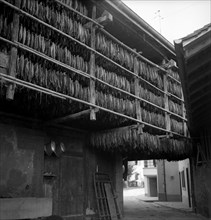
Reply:
[[115, 200], [114, 200], [115, 198], [112, 193], [111, 184], [105, 183], [104, 187], [105, 187], [105, 192], [106, 192], [106, 197], [107, 197], [107, 201], [108, 201], [108, 207], [109, 207], [111, 219], [118, 220], [118, 216], [117, 216], [118, 214], [117, 214], [116, 204], [115, 204]]

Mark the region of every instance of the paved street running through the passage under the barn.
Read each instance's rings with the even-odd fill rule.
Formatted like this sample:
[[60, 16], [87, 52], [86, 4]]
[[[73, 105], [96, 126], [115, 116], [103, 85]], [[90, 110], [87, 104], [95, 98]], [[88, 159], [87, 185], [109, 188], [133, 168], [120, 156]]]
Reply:
[[157, 197], [144, 196], [144, 189], [124, 190], [125, 220], [200, 220], [188, 207], [181, 202], [158, 202]]

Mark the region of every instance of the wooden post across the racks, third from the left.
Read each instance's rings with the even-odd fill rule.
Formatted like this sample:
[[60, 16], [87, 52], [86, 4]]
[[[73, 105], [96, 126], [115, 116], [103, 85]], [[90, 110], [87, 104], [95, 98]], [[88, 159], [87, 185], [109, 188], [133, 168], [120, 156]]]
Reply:
[[[138, 59], [137, 57], [135, 57], [134, 59], [134, 73], [138, 76]], [[137, 77], [135, 77], [135, 95], [139, 97], [139, 93], [140, 93], [140, 88], [139, 88], [139, 79]], [[136, 99], [136, 118], [142, 122], [142, 116], [141, 116], [141, 105], [140, 105], [140, 100]], [[138, 133], [142, 133], [143, 132], [143, 124], [139, 124], [138, 126]]]

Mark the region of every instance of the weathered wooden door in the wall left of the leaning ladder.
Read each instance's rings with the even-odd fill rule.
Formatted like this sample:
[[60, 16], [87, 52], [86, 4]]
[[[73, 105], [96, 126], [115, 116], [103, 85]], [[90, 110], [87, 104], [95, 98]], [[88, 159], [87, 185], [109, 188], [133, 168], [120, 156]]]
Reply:
[[80, 216], [83, 216], [84, 204], [83, 157], [63, 156], [60, 168], [61, 215], [82, 219]]

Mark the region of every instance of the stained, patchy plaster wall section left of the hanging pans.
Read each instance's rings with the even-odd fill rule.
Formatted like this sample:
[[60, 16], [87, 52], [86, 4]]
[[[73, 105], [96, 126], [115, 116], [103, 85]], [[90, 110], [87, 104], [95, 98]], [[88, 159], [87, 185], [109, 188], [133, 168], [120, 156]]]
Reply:
[[0, 124], [0, 197], [42, 197], [44, 138], [39, 131]]

